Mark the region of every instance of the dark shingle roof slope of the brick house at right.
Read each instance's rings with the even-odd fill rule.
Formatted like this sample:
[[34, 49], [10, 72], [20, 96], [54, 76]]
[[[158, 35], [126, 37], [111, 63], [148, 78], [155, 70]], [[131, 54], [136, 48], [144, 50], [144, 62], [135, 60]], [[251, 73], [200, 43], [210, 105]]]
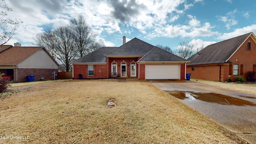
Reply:
[[198, 52], [199, 55], [194, 54], [193, 56], [188, 58], [188, 60], [190, 60], [190, 63], [187, 65], [229, 63], [226, 62], [228, 58], [251, 34], [252, 32], [206, 46], [206, 48]]

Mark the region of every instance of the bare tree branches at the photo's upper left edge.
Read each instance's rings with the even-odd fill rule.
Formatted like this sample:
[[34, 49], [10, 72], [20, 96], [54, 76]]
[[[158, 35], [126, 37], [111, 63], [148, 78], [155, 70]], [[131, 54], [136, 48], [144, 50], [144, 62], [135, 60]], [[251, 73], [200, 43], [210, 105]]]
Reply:
[[[2, 2], [4, 0], [1, 0]], [[11, 40], [15, 34], [17, 34], [17, 30], [20, 26], [20, 23], [23, 23], [21, 20], [12, 20], [7, 18], [7, 12], [12, 11], [11, 8], [4, 4], [0, 6], [0, 45], [6, 44], [9, 40]]]

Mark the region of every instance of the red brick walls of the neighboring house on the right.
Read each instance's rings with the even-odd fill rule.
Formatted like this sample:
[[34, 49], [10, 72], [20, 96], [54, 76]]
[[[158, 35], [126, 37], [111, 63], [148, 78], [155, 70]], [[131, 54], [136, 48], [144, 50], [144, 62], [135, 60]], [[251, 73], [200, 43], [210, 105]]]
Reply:
[[[247, 44], [250, 40], [251, 50], [247, 50]], [[211, 65], [211, 66], [194, 66], [195, 70], [192, 71], [192, 66], [187, 66], [187, 73], [191, 73], [190, 78], [198, 78], [205, 80], [227, 81], [231, 78], [236, 81], [236, 77], [242, 76], [246, 81], [245, 74], [253, 70], [253, 64], [256, 64], [256, 43], [252, 38], [248, 38], [244, 44], [236, 51], [236, 53], [229, 59], [232, 62], [232, 74], [229, 74], [229, 64]], [[233, 75], [233, 65], [238, 64], [238, 75]], [[241, 64], [243, 64], [243, 74], [241, 73]], [[221, 73], [221, 74], [220, 74]]]

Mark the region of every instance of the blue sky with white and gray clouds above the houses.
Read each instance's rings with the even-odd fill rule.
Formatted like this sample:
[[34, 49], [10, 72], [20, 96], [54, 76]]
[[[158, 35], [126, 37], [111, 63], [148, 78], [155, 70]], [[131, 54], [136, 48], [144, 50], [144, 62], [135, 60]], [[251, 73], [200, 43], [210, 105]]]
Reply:
[[[138, 38], [172, 50], [188, 41], [197, 47], [242, 34], [256, 34], [256, 0], [5, 0], [8, 17], [22, 20], [18, 35], [6, 44], [35, 46], [48, 27], [67, 26], [84, 16], [96, 42], [121, 46]], [[0, 7], [2, 9], [2, 7]]]

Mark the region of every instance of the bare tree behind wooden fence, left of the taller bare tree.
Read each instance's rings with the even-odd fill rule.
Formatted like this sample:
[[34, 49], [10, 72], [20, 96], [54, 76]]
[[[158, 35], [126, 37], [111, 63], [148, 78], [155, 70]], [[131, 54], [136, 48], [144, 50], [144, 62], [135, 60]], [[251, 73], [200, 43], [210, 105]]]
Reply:
[[54, 30], [56, 36], [56, 58], [66, 67], [66, 72], [70, 70], [71, 62], [75, 60], [77, 50], [73, 40], [72, 30], [68, 26], [59, 27]]

